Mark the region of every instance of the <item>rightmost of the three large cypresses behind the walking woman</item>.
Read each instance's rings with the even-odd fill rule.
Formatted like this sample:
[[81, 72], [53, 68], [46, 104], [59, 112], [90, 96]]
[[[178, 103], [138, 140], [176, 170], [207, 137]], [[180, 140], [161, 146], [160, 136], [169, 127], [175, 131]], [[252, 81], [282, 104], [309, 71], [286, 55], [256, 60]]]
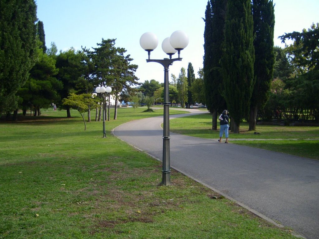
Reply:
[[274, 72], [274, 5], [269, 0], [253, 0], [255, 47], [254, 75], [256, 83], [250, 102], [249, 130], [256, 130], [256, 116], [268, 98]]

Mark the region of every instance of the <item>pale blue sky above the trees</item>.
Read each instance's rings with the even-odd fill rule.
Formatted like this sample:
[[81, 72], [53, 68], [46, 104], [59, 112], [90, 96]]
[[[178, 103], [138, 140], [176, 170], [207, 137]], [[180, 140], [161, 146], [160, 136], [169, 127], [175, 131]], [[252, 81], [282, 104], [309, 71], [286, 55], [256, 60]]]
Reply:
[[[284, 47], [278, 36], [308, 29], [319, 22], [318, 0], [274, 0], [274, 44]], [[96, 47], [102, 38], [116, 39], [117, 47], [124, 47], [138, 65], [136, 76], [143, 83], [155, 79], [164, 82], [163, 67], [146, 63], [147, 52], [139, 45], [140, 36], [153, 32], [159, 46], [152, 59], [163, 59], [162, 41], [175, 30], [189, 36], [189, 45], [182, 50], [182, 62], [170, 66], [170, 74], [178, 76], [182, 67], [191, 62], [195, 74], [203, 67], [204, 20], [207, 0], [36, 0], [37, 17], [43, 22], [46, 45], [55, 42], [59, 50], [74, 47]], [[174, 57], [174, 56], [173, 56]]]

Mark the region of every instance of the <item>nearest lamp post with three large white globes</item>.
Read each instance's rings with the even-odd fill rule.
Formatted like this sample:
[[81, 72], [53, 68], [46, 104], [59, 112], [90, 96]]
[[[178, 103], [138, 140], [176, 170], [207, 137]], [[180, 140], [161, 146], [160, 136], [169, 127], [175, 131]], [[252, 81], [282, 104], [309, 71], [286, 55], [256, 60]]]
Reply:
[[[158, 45], [158, 38], [155, 34], [147, 32], [140, 38], [141, 47], [148, 52], [146, 62], [157, 62], [164, 67], [164, 127], [163, 127], [163, 167], [161, 185], [171, 185], [171, 169], [170, 169], [170, 148], [169, 148], [169, 91], [168, 91], [168, 68], [175, 61], [182, 61], [180, 58], [181, 50], [187, 47], [189, 42], [188, 36], [182, 31], [175, 31], [170, 37], [162, 42], [163, 51], [169, 55], [169, 58], [163, 60], [150, 59], [151, 51]], [[178, 58], [173, 58], [178, 52]]]

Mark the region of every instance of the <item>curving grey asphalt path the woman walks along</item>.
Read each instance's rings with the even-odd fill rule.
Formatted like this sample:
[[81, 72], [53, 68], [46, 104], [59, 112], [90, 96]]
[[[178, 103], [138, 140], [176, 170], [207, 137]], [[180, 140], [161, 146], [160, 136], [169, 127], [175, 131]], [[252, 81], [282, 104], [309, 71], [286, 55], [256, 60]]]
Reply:
[[[191, 114], [199, 112], [170, 119]], [[162, 160], [162, 122], [163, 116], [135, 120], [113, 134]], [[307, 239], [319, 238], [319, 161], [217, 139], [170, 136], [173, 168]]]

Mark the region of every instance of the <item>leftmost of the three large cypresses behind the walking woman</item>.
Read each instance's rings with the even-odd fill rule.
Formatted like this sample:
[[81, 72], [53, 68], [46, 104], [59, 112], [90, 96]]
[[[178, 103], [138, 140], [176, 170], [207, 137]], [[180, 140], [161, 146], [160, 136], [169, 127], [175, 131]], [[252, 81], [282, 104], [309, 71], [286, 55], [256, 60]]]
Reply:
[[212, 113], [212, 129], [217, 129], [217, 113], [224, 110], [220, 59], [224, 41], [226, 0], [211, 0], [205, 11], [204, 90], [207, 109]]

